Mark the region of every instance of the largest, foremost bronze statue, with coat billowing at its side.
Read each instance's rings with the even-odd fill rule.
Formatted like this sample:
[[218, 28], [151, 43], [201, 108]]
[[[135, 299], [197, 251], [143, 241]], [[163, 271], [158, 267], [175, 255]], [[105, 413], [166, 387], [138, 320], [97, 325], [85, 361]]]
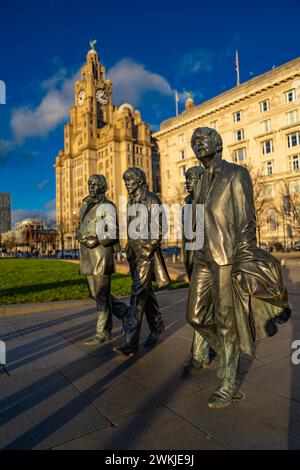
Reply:
[[248, 170], [222, 160], [214, 129], [196, 129], [191, 145], [204, 168], [193, 201], [194, 209], [204, 204], [204, 243], [193, 259], [187, 320], [217, 353], [221, 380], [208, 406], [222, 408], [238, 391], [241, 351], [254, 356], [254, 341], [276, 333], [290, 309], [280, 264], [257, 247]]

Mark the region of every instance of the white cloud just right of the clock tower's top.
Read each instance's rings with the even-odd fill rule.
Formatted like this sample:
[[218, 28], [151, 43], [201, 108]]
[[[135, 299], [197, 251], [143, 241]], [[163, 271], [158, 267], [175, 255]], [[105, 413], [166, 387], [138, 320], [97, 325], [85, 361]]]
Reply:
[[169, 82], [157, 73], [146, 70], [145, 66], [131, 59], [122, 59], [107, 72], [113, 82], [114, 101], [117, 104], [128, 102], [136, 106], [145, 93], [156, 91], [162, 95], [172, 95]]

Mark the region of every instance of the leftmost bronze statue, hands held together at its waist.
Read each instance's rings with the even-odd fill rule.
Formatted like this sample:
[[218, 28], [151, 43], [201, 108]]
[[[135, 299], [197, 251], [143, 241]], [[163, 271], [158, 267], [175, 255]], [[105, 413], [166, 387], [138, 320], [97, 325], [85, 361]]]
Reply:
[[78, 240], [80, 272], [86, 275], [98, 312], [96, 334], [85, 345], [97, 346], [111, 338], [112, 313], [122, 319], [128, 307], [111, 295], [114, 254], [119, 250], [119, 228], [116, 207], [105, 196], [105, 176], [90, 176], [88, 188], [89, 196], [83, 200], [80, 210]]

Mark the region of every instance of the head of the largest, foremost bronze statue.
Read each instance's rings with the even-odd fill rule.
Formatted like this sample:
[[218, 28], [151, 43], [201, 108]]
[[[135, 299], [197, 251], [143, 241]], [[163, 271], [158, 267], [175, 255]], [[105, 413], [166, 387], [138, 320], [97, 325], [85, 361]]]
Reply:
[[196, 158], [203, 163], [205, 167], [209, 166], [210, 160], [219, 154], [221, 157], [223, 142], [220, 134], [210, 127], [198, 127], [194, 130], [191, 146]]

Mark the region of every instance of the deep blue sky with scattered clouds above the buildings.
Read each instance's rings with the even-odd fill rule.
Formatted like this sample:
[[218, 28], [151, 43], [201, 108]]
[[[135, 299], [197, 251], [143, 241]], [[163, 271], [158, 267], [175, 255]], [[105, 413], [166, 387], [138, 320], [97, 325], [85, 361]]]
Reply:
[[235, 86], [236, 48], [242, 82], [300, 56], [299, 17], [296, 0], [1, 2], [0, 191], [14, 220], [53, 216], [53, 163], [91, 38], [116, 104], [155, 129], [175, 114], [175, 89], [198, 104]]

